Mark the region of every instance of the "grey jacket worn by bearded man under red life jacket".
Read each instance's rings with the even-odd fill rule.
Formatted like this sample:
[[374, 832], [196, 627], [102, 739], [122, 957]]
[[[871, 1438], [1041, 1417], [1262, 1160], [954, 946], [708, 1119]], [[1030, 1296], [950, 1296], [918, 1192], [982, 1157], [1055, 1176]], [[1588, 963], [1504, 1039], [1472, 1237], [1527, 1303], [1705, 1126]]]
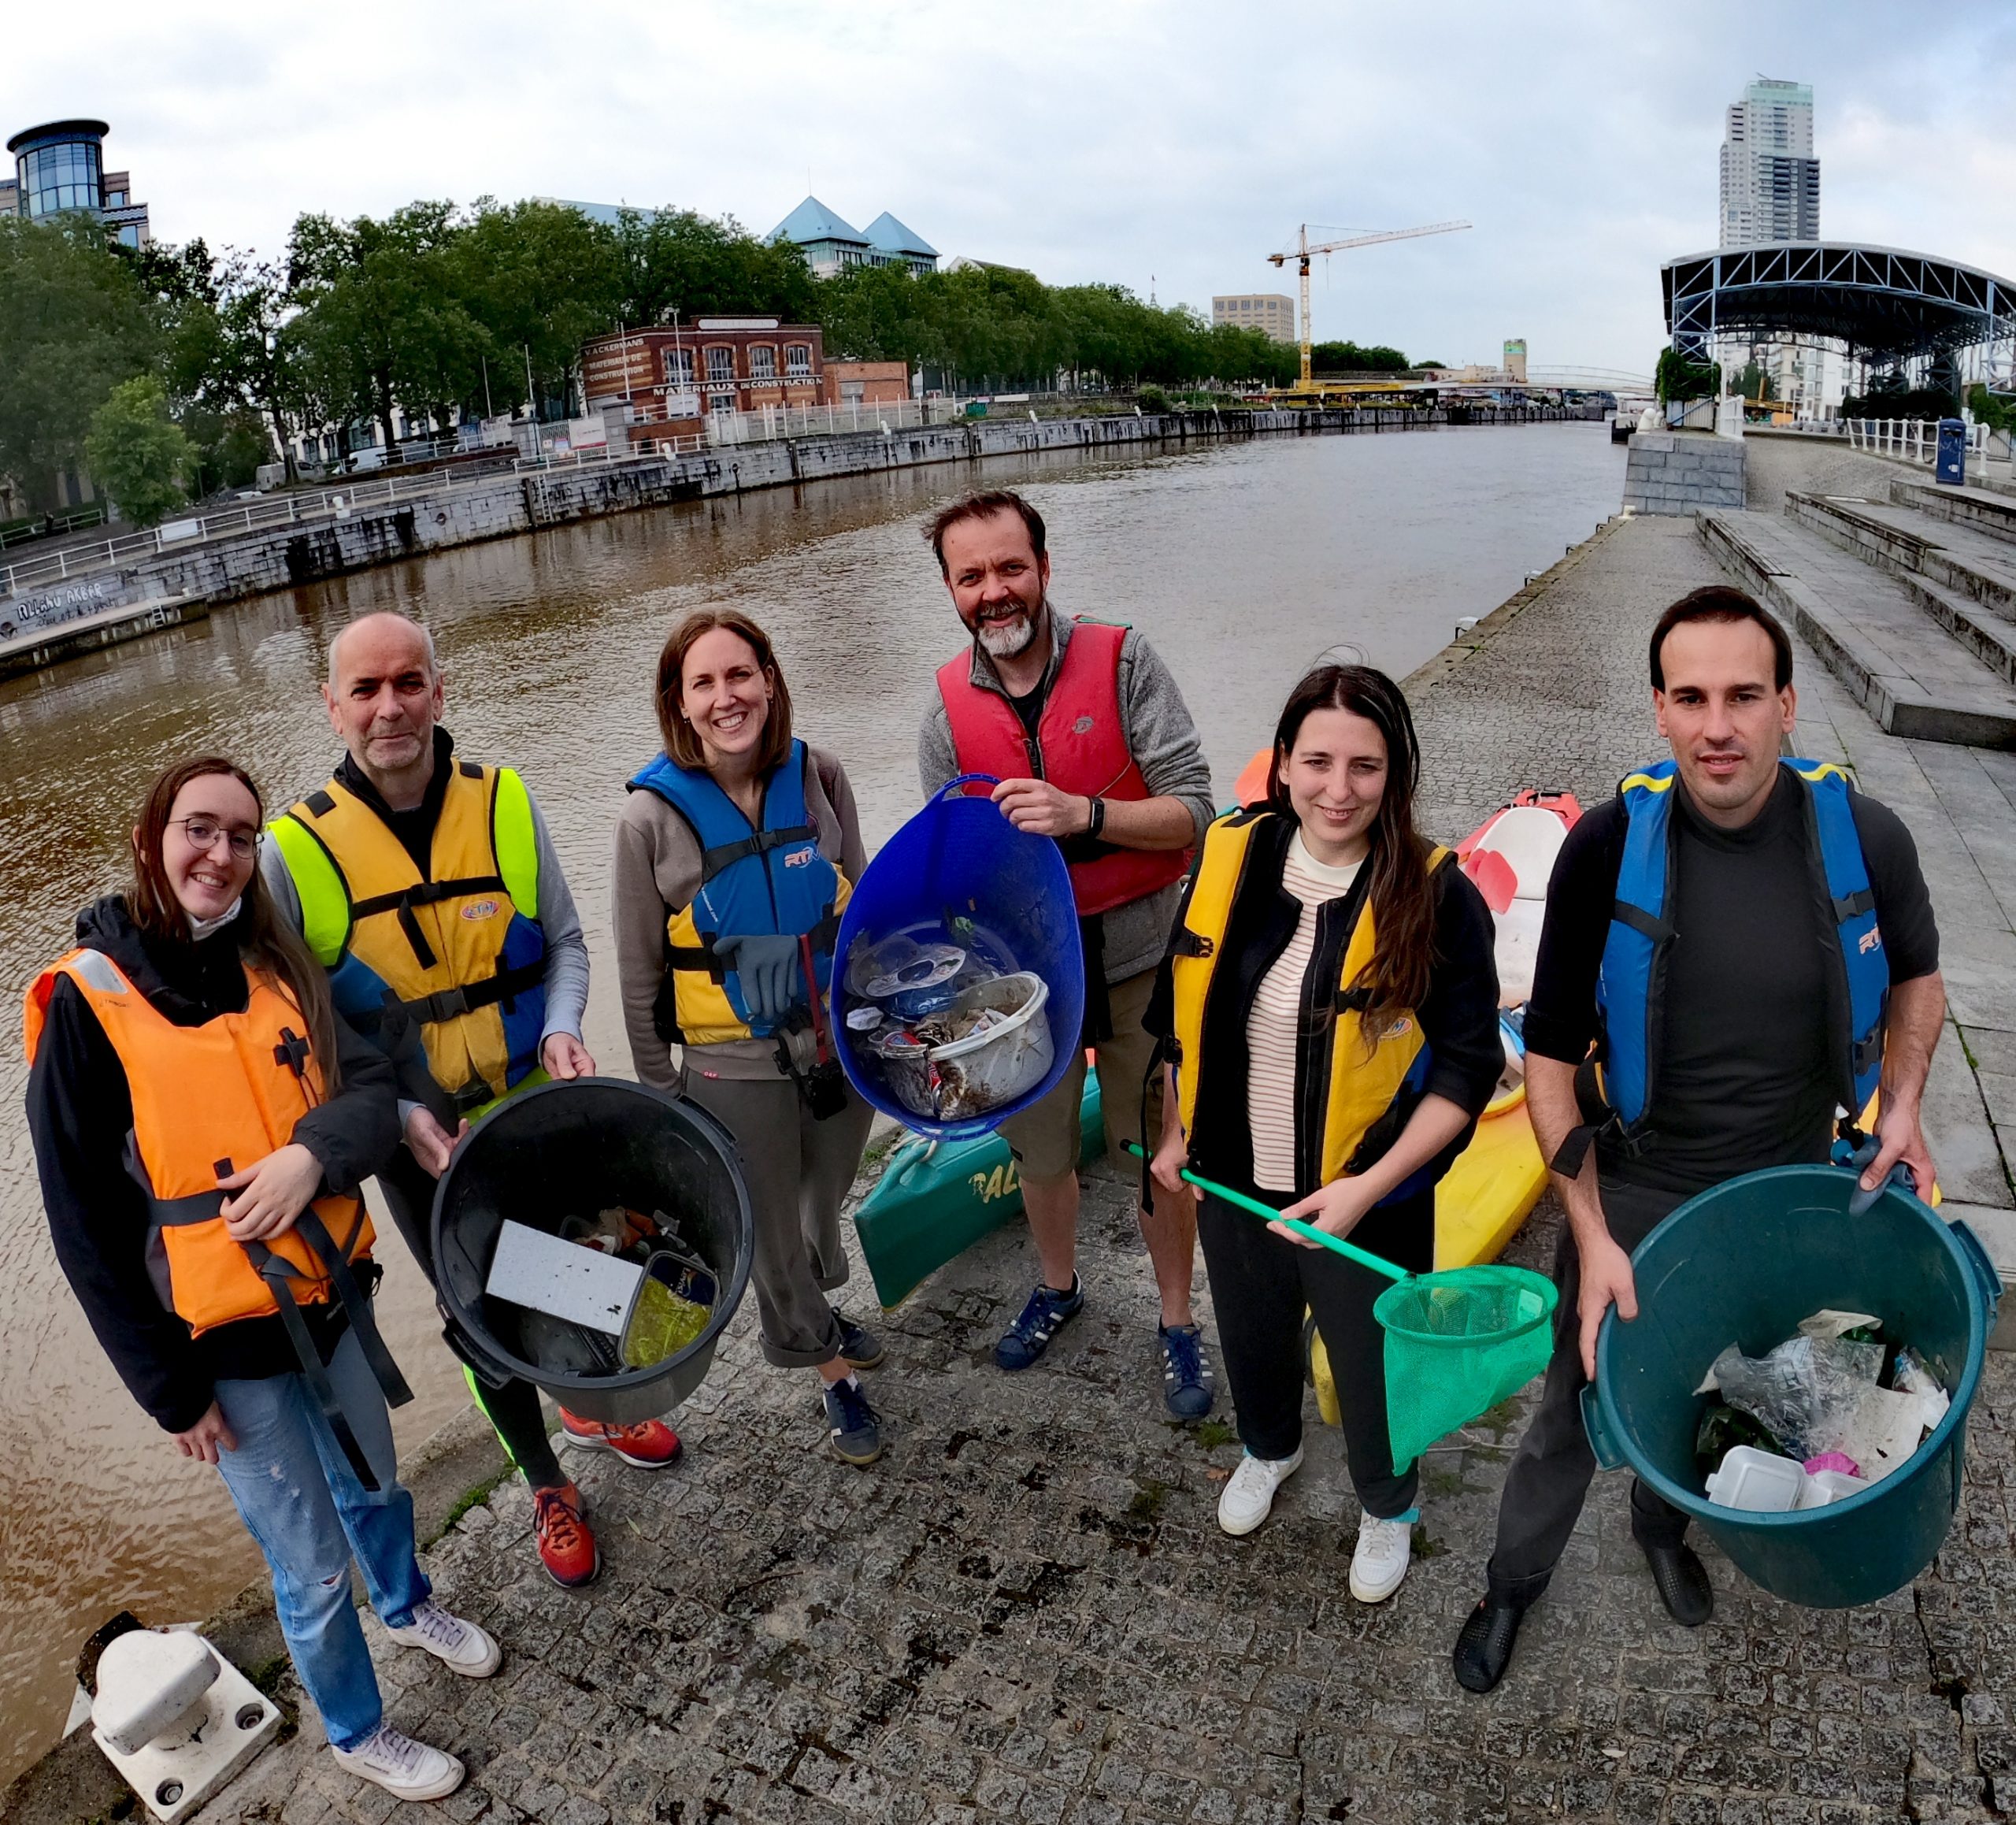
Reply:
[[[1054, 603], [1050, 605], [1050, 665], [1042, 674], [1044, 694], [1056, 684], [1056, 672], [1064, 663], [1064, 647], [1070, 645], [1070, 615], [1058, 613]], [[970, 678], [978, 690], [994, 692], [1000, 698], [1008, 696], [980, 641], [974, 641], [972, 647]], [[1212, 768], [1204, 758], [1198, 726], [1189, 720], [1189, 706], [1175, 688], [1175, 678], [1161, 663], [1161, 655], [1133, 629], [1121, 641], [1119, 694], [1127, 750], [1141, 768], [1141, 778], [1147, 780], [1149, 797], [1181, 799], [1195, 825], [1193, 841], [1202, 845], [1204, 833], [1218, 817], [1212, 799]], [[917, 776], [923, 782], [925, 799], [958, 774], [960, 760], [952, 746], [952, 720], [946, 716], [946, 700], [933, 694], [923, 728], [917, 732]], [[1181, 897], [1183, 883], [1171, 881], [1161, 891], [1149, 893], [1145, 899], [1131, 899], [1105, 916], [1107, 982], [1123, 982], [1161, 962]]]

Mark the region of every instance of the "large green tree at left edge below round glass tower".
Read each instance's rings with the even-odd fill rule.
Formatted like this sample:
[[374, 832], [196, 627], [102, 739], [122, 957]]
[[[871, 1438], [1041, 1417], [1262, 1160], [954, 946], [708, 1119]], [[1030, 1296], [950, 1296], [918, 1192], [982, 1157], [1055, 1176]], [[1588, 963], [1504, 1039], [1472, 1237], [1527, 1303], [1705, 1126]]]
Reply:
[[157, 359], [129, 260], [89, 218], [0, 216], [0, 474], [36, 508], [85, 460], [91, 413]]

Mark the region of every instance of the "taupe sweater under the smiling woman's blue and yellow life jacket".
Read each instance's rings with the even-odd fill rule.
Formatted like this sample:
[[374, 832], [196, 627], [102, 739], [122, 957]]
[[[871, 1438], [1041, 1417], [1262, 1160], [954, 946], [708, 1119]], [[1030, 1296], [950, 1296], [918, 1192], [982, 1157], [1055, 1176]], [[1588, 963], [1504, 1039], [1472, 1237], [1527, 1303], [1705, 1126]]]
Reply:
[[[861, 819], [847, 770], [825, 748], [812, 748], [804, 776], [804, 809], [818, 829], [818, 853], [849, 881], [861, 879]], [[677, 1091], [685, 1071], [708, 1077], [774, 1081], [776, 1043], [734, 1039], [722, 1045], [681, 1047], [683, 1061], [657, 1037], [651, 1006], [665, 980], [665, 922], [671, 909], [691, 905], [700, 891], [700, 839], [657, 793], [629, 793], [617, 817], [615, 885], [611, 918], [617, 936], [617, 980], [623, 984], [623, 1030], [641, 1083]]]

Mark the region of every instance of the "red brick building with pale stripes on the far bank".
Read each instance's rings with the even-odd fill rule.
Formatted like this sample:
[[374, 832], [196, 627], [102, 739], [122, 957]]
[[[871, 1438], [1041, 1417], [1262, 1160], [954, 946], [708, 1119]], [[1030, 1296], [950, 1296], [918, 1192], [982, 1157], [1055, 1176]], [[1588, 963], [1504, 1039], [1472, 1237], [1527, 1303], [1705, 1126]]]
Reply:
[[591, 337], [581, 347], [589, 409], [629, 401], [639, 421], [689, 419], [764, 405], [825, 405], [825, 345], [816, 323], [700, 317], [675, 329]]

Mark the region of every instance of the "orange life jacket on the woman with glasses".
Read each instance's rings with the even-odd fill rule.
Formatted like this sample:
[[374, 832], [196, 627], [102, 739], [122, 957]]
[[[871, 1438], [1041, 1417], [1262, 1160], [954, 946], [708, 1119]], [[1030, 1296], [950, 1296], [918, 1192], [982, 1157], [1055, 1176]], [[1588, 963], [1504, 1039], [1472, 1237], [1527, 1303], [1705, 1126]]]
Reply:
[[[56, 976], [77, 984], [125, 1067], [133, 1093], [127, 1168], [147, 1194], [147, 1274], [161, 1305], [194, 1337], [236, 1319], [274, 1317], [280, 1303], [268, 1276], [224, 1226], [218, 1180], [284, 1147], [323, 1097], [300, 1008], [246, 970], [242, 1014], [177, 1026], [109, 956], [73, 950], [28, 990], [30, 1063]], [[312, 1210], [345, 1260], [369, 1256], [373, 1232], [361, 1198], [317, 1198]], [[296, 1222], [274, 1236], [266, 1252], [292, 1268], [284, 1279], [298, 1305], [325, 1305], [331, 1276], [300, 1230]]]

